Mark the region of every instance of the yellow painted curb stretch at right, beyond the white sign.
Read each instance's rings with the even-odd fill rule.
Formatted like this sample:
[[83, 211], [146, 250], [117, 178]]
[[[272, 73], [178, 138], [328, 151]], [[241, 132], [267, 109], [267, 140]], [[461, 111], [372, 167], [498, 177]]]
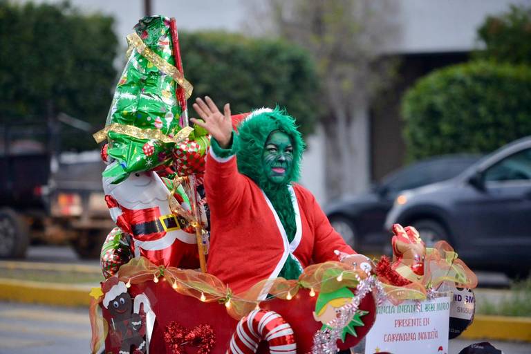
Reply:
[[461, 339], [499, 339], [531, 342], [531, 318], [476, 315]]

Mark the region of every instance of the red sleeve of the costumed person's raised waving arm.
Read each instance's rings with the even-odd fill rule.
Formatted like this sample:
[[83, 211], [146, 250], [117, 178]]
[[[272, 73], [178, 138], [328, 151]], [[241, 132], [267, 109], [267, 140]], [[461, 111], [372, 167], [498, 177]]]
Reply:
[[205, 169], [205, 192], [211, 209], [230, 211], [241, 201], [247, 179], [239, 173], [236, 156], [217, 158], [209, 151]]

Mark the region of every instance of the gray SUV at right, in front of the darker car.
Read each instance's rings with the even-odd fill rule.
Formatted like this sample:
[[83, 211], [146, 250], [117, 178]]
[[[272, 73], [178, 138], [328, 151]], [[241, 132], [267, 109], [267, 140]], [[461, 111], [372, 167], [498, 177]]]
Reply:
[[525, 276], [531, 268], [531, 136], [451, 180], [402, 192], [385, 227], [413, 225], [428, 245], [447, 240], [467, 265]]

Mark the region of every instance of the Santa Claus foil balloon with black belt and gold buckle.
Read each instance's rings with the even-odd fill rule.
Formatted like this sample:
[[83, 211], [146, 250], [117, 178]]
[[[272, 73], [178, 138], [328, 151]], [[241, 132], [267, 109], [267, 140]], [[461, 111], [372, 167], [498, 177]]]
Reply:
[[198, 268], [196, 236], [183, 230], [189, 224], [185, 218], [171, 213], [170, 192], [156, 172], [111, 182], [103, 178], [105, 200], [113, 221], [131, 235], [135, 257], [166, 267]]

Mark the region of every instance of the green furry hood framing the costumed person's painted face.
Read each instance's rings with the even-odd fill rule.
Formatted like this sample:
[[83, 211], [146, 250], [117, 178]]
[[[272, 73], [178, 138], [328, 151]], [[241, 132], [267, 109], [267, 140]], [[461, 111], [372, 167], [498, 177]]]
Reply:
[[279, 107], [270, 112], [251, 113], [248, 119], [241, 122], [238, 127], [239, 146], [236, 152], [238, 170], [254, 180], [262, 189], [271, 187], [263, 169], [262, 153], [265, 141], [273, 131], [288, 134], [293, 146], [293, 165], [286, 178], [286, 184], [299, 179], [302, 153], [306, 147], [295, 125], [295, 119]]

